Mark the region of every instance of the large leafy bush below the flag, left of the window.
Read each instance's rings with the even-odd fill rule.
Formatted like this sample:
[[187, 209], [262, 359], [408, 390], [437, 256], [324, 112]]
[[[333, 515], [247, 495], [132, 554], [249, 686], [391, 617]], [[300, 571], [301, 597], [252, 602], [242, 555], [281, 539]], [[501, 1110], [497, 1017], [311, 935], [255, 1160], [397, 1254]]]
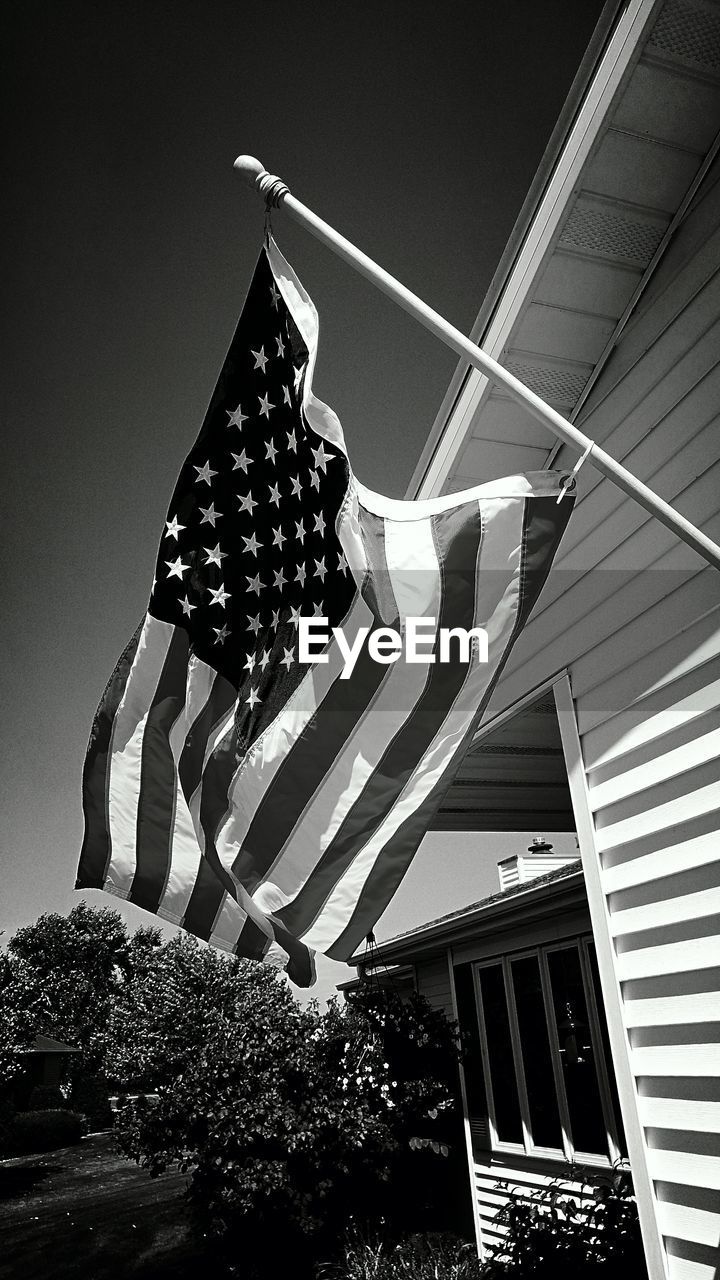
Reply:
[[[232, 965], [234, 1004], [206, 1010], [204, 1041], [156, 1101], [123, 1111], [119, 1138], [151, 1174], [190, 1175], [196, 1221], [238, 1274], [291, 1260], [300, 1276], [350, 1221], [402, 1230], [437, 1204], [428, 1166], [442, 1175], [452, 1139], [454, 1030], [420, 998], [361, 987], [323, 1012], [265, 966]], [[159, 1025], [161, 1004], [160, 988]]]

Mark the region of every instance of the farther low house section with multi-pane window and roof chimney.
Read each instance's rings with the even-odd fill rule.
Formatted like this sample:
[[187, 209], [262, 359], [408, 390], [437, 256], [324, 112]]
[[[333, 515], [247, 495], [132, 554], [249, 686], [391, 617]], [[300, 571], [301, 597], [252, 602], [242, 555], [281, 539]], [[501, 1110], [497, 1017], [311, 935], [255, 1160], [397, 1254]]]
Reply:
[[533, 841], [498, 873], [500, 892], [356, 957], [365, 980], [421, 992], [462, 1032], [480, 1253], [505, 1231], [498, 1183], [532, 1190], [566, 1179], [569, 1162], [600, 1170], [626, 1157], [582, 864]]

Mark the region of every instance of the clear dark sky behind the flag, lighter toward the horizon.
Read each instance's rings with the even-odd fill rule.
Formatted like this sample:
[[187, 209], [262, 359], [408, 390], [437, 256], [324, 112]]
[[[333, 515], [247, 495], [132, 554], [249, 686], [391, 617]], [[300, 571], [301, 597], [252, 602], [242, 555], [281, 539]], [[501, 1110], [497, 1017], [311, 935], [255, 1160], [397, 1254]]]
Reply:
[[[236, 155], [469, 330], [601, 9], [8, 6], [0, 929], [74, 900], [87, 733], [261, 242]], [[455, 357], [274, 229], [320, 312], [315, 390], [359, 479], [402, 497]], [[518, 844], [429, 837], [378, 937], [492, 892]]]

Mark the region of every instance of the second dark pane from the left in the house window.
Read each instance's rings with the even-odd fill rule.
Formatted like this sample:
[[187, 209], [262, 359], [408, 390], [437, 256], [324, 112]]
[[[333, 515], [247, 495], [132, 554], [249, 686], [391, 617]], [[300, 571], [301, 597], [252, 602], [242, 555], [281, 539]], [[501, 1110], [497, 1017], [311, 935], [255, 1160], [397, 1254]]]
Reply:
[[552, 1075], [539, 964], [536, 956], [528, 956], [524, 960], [514, 960], [511, 970], [533, 1142], [537, 1147], [561, 1147], [562, 1130]]

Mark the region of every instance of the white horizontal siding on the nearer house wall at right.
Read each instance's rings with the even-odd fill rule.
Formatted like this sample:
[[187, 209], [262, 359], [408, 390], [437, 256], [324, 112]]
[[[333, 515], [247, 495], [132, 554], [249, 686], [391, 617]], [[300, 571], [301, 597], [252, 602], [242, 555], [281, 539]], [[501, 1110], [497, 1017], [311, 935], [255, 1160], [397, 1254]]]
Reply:
[[[580, 416], [588, 435], [716, 540], [717, 170], [716, 164]], [[574, 461], [561, 449], [556, 465]], [[583, 859], [598, 864], [621, 1052], [643, 1134], [637, 1149], [652, 1183], [670, 1280], [714, 1280], [720, 575], [589, 468], [580, 474], [579, 494], [553, 576], [492, 712], [568, 668], [591, 823]], [[591, 877], [588, 892], [594, 892]], [[598, 919], [596, 911], [596, 928]]]

